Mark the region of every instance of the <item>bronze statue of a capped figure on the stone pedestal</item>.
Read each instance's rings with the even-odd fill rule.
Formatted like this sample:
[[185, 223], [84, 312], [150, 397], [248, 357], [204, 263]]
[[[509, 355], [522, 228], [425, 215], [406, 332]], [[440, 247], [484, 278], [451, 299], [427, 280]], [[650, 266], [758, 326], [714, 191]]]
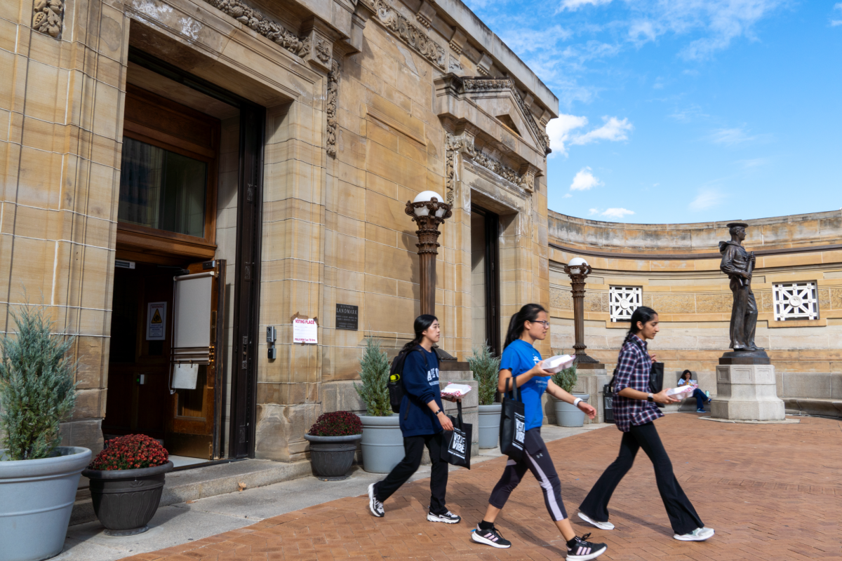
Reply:
[[751, 291], [751, 275], [754, 272], [754, 251], [745, 251], [745, 229], [748, 224], [732, 222], [727, 225], [731, 241], [720, 241], [722, 273], [731, 279], [734, 295], [731, 309], [731, 348], [734, 351], [762, 351], [754, 344], [754, 330], [757, 328], [757, 302]]

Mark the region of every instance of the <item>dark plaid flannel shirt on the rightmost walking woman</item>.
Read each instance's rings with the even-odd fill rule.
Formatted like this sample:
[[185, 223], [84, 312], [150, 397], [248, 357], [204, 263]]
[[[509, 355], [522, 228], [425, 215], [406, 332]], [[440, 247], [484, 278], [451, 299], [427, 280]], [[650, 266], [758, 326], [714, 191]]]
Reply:
[[630, 400], [620, 394], [621, 389], [631, 388], [649, 393], [649, 372], [652, 358], [646, 351], [646, 341], [638, 336], [629, 337], [623, 343], [617, 358], [617, 377], [614, 380], [614, 422], [618, 429], [628, 432], [632, 425], [645, 425], [663, 413], [658, 405], [647, 400]]

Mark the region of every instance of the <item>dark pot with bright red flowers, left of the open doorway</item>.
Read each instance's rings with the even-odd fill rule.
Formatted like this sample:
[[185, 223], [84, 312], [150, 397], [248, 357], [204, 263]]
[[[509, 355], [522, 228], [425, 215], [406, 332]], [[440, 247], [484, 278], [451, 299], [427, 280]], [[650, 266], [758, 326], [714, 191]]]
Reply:
[[91, 480], [93, 511], [109, 536], [146, 532], [155, 516], [165, 474], [173, 468], [167, 450], [142, 434], [117, 437], [83, 475]]

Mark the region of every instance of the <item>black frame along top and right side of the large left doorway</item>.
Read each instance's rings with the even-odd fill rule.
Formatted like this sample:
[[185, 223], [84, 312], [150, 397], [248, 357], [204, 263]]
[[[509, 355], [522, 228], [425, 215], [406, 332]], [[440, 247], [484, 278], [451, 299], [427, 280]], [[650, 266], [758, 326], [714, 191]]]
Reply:
[[[253, 458], [266, 108], [135, 47], [129, 47], [129, 61], [240, 109], [237, 254], [236, 268], [231, 272], [236, 279], [232, 309], [232, 372], [229, 380], [227, 365], [223, 363], [216, 382], [221, 395], [226, 394], [227, 384], [231, 387], [230, 431], [228, 442], [221, 442], [226, 435], [221, 433], [222, 427], [218, 427], [220, 452], [227, 448], [229, 458]], [[221, 415], [217, 418], [221, 423]]]

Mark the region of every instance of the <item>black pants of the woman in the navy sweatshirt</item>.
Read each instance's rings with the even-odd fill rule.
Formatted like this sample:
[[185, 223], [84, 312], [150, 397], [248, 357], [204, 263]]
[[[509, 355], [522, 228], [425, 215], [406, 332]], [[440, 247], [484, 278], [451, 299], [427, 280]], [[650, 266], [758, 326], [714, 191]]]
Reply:
[[429, 459], [433, 463], [433, 472], [429, 478], [429, 511], [433, 514], [445, 514], [447, 505], [445, 493], [447, 492], [447, 462], [442, 457], [445, 452], [443, 433], [425, 434], [420, 437], [403, 437], [403, 450], [405, 455], [400, 463], [392, 469], [392, 473], [386, 475], [380, 483], [374, 486], [375, 497], [381, 502], [391, 497], [402, 484], [407, 482], [412, 474], [418, 471], [421, 465], [421, 456], [424, 455], [424, 446], [429, 450]]

